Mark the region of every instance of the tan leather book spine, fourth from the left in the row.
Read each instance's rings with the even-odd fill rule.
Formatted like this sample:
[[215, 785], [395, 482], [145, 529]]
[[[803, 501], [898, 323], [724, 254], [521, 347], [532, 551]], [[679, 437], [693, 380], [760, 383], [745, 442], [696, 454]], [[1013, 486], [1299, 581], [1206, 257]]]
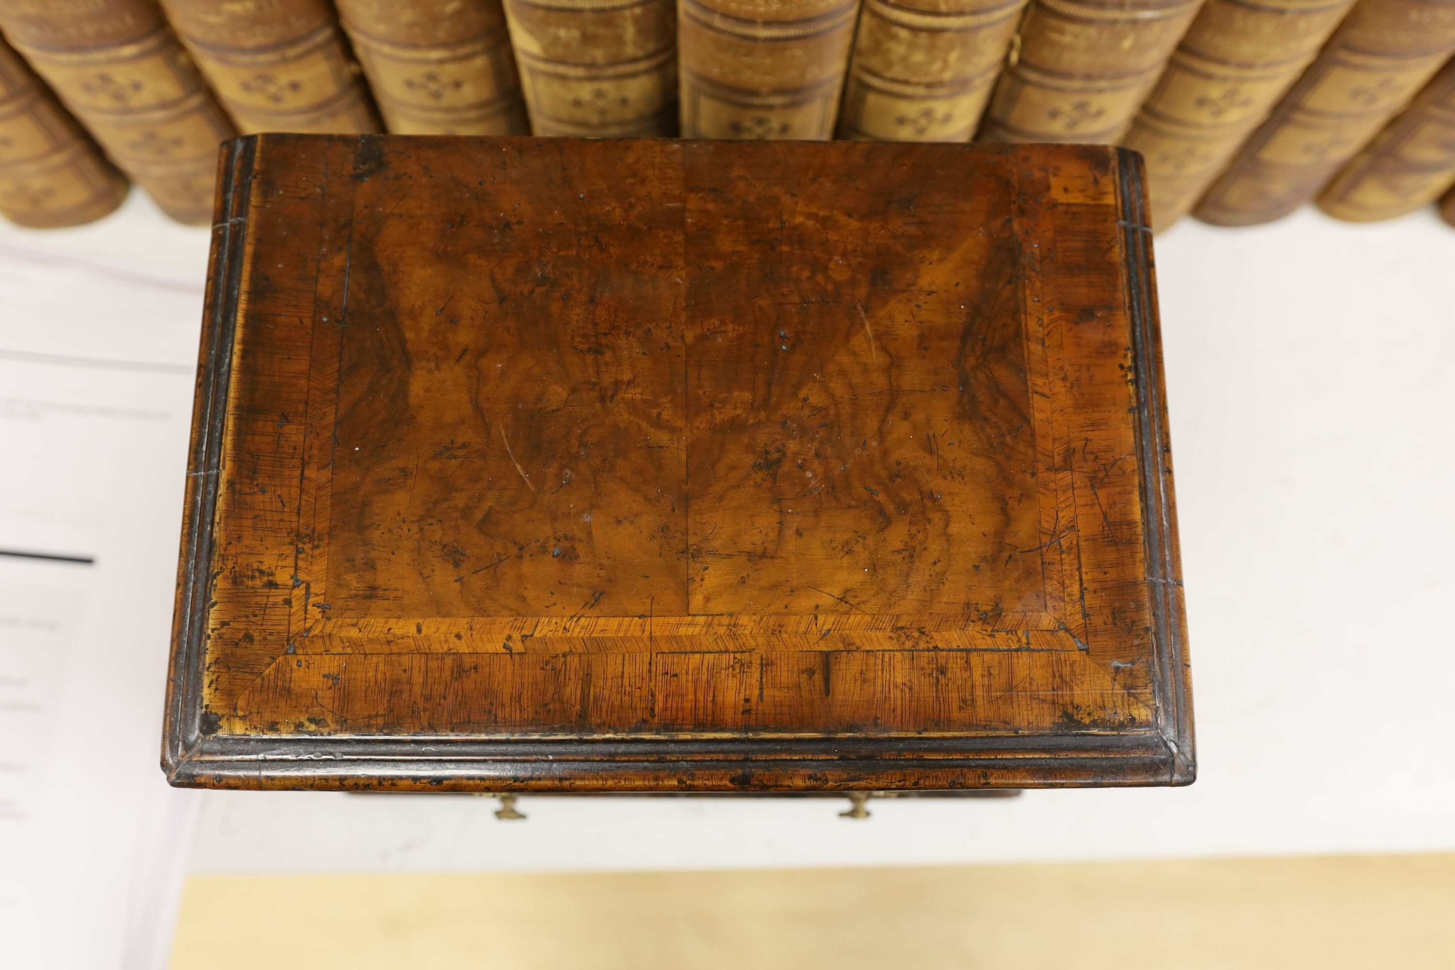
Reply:
[[338, 7], [391, 132], [530, 131], [501, 0], [338, 0]]

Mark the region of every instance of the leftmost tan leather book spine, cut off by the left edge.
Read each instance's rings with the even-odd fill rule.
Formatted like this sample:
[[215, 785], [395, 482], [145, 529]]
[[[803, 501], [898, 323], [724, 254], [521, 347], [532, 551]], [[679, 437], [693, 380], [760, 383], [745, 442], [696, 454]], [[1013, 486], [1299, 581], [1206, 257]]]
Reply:
[[127, 179], [0, 41], [0, 215], [32, 228], [80, 225], [127, 198]]

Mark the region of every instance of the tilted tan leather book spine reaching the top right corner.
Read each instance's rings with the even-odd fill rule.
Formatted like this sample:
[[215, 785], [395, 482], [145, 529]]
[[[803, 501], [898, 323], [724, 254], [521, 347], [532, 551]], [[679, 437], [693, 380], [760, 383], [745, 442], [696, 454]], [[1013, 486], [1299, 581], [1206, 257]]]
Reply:
[[1193, 209], [1272, 223], [1311, 201], [1455, 51], [1455, 0], [1360, 0]]

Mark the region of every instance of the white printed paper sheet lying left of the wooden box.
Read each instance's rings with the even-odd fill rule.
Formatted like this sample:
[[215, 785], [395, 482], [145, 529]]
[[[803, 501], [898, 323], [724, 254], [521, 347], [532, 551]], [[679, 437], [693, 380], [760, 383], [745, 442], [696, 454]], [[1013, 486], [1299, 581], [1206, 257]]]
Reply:
[[0, 243], [0, 966], [160, 970], [195, 285]]

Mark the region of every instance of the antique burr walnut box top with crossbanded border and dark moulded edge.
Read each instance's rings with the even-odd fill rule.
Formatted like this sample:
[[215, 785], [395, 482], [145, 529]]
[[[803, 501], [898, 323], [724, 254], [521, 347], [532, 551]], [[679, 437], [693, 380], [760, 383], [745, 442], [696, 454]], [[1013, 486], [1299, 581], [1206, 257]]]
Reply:
[[1184, 784], [1109, 147], [224, 150], [175, 784]]

